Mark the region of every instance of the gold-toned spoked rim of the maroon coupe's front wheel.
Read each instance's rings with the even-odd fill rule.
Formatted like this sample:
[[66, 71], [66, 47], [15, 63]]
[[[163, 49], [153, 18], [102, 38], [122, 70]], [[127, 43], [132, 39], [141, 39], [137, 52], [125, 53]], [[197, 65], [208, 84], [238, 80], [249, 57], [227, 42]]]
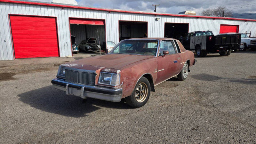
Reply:
[[138, 102], [146, 100], [148, 95], [148, 86], [145, 83], [140, 83], [136, 87], [135, 98]]

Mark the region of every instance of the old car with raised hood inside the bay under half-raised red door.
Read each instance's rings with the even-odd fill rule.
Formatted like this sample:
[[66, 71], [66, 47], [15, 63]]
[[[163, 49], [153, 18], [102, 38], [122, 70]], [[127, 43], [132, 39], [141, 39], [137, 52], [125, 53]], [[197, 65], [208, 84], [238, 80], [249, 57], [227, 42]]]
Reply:
[[81, 41], [79, 48], [85, 52], [100, 52], [100, 44], [98, 44], [98, 38], [90, 37], [87, 40]]

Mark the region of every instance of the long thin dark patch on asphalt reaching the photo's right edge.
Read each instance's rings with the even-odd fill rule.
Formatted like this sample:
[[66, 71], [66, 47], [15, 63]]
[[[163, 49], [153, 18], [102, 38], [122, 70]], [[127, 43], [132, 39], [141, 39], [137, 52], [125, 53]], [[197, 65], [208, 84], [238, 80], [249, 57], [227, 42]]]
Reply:
[[[192, 75], [191, 77], [195, 78], [195, 79], [198, 79], [198, 80], [201, 80], [201, 81], [256, 85], [256, 79], [255, 78], [225, 78], [225, 77], [213, 76], [213, 75], [209, 75], [209, 74], [198, 74], [198, 75]], [[226, 80], [226, 82], [218, 81], [218, 80], [221, 80], [221, 79]]]

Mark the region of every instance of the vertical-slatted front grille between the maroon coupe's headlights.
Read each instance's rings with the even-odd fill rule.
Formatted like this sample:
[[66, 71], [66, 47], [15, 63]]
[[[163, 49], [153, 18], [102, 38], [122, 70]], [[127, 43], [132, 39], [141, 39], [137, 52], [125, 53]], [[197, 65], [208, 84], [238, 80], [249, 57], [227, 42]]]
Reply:
[[73, 84], [95, 86], [95, 74], [65, 69], [65, 81]]

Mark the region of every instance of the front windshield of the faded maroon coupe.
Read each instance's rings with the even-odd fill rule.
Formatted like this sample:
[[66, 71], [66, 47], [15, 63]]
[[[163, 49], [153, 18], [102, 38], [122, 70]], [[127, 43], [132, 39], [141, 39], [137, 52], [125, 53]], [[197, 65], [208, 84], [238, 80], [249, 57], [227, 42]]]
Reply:
[[110, 53], [156, 55], [157, 40], [123, 40]]

